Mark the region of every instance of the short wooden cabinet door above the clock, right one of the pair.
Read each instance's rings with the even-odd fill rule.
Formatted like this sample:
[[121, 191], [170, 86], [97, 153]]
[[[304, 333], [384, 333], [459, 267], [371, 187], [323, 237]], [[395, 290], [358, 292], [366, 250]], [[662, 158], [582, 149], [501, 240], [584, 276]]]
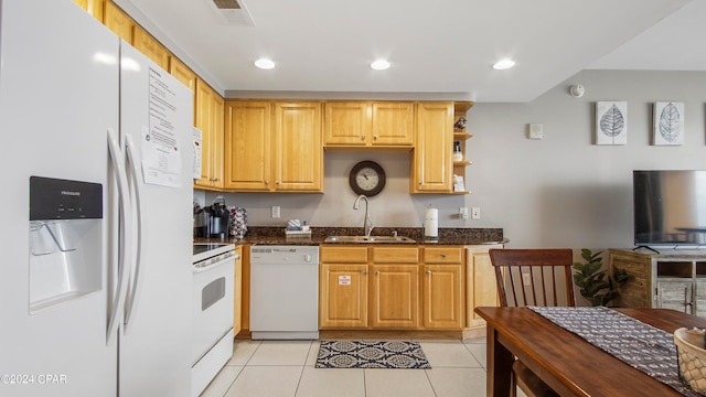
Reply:
[[411, 147], [414, 103], [373, 103], [373, 146]]

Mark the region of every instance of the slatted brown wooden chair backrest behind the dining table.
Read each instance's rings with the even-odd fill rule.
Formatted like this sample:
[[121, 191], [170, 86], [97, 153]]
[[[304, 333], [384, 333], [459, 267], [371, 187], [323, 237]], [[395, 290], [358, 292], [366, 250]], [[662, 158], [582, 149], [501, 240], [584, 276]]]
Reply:
[[502, 307], [576, 305], [570, 249], [491, 249]]

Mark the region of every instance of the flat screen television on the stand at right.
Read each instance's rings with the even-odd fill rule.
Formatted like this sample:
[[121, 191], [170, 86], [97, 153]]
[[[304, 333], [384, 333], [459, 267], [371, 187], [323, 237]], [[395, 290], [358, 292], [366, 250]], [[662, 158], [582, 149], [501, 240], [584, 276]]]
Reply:
[[633, 171], [637, 246], [706, 245], [706, 171]]

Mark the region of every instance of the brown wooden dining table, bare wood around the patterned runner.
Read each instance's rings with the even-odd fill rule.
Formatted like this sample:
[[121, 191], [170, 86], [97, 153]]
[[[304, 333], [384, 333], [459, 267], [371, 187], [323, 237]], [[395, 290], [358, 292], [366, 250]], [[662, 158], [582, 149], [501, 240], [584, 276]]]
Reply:
[[[617, 310], [668, 333], [706, 328], [705, 319], [668, 309]], [[560, 396], [681, 395], [531, 309], [489, 307], [475, 312], [488, 325], [486, 396], [510, 395], [515, 357]]]

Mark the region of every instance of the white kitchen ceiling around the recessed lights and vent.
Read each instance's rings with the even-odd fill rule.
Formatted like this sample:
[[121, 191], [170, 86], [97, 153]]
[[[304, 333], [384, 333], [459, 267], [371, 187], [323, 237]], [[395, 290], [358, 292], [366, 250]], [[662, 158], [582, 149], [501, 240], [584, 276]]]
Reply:
[[[586, 68], [706, 71], [705, 0], [237, 1], [254, 26], [226, 23], [213, 0], [116, 3], [227, 97], [530, 101]], [[372, 69], [381, 57], [392, 67]], [[515, 67], [491, 67], [504, 57]]]

